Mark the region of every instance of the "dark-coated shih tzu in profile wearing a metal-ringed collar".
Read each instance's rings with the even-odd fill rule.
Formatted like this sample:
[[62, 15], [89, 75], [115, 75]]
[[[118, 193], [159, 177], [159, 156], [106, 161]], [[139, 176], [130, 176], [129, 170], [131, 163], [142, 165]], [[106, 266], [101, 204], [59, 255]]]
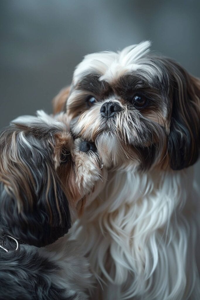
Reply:
[[98, 193], [103, 173], [95, 147], [73, 141], [63, 113], [22, 116], [1, 132], [1, 300], [88, 298], [88, 262], [60, 237]]

